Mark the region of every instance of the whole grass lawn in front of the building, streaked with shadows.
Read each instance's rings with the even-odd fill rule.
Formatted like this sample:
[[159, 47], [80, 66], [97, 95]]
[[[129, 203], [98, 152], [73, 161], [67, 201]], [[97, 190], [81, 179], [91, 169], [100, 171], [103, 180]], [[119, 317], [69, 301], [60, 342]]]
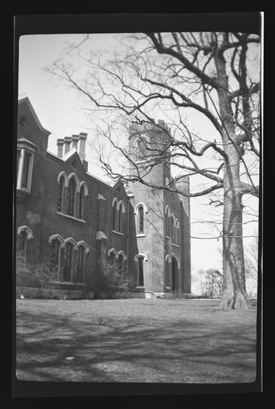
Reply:
[[217, 300], [17, 300], [17, 379], [252, 382], [256, 308]]

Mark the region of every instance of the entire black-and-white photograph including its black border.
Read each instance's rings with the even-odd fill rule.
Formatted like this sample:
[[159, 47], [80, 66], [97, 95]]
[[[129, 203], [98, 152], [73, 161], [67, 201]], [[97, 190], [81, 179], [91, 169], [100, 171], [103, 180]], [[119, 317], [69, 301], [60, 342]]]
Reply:
[[14, 19], [15, 394], [261, 392], [263, 12], [65, 17]]

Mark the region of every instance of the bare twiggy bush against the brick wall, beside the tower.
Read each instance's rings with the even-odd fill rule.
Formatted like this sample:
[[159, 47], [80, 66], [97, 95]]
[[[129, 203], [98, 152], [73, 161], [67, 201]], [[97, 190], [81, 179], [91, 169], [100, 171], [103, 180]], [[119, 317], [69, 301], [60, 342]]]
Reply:
[[111, 262], [104, 262], [103, 275], [105, 284], [109, 290], [120, 291], [127, 293], [131, 287], [133, 287], [133, 276], [126, 276], [126, 268], [120, 270], [117, 264]]

